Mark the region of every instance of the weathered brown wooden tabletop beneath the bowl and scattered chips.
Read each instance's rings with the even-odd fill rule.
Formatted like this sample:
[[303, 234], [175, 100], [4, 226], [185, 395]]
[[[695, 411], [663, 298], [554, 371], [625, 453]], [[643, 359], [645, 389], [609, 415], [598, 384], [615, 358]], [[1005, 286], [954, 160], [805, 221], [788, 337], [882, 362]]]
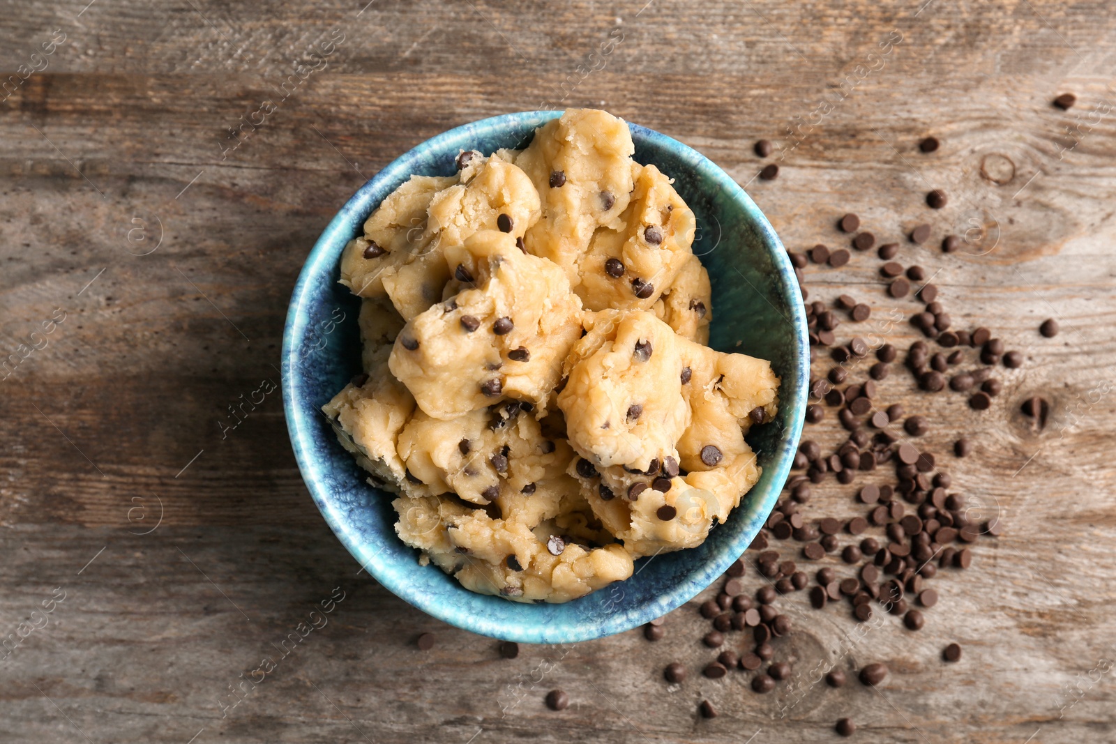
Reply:
[[[46, 342], [0, 383], [0, 637], [46, 624], [0, 661], [0, 742], [825, 742], [844, 716], [862, 742], [1116, 740], [1107, 3], [362, 7], [0, 13], [4, 75], [46, 62], [0, 103], [0, 339], [4, 355]], [[32, 60], [56, 29], [66, 41]], [[341, 33], [326, 65], [310, 56]], [[319, 68], [299, 80], [296, 61]], [[579, 65], [598, 69], [583, 78]], [[1078, 105], [1051, 107], [1067, 90]], [[275, 110], [224, 152], [266, 99]], [[931, 418], [923, 446], [1006, 524], [971, 569], [935, 581], [926, 628], [886, 617], [849, 642], [847, 609], [782, 602], [797, 630], [780, 658], [804, 675], [843, 648], [848, 668], [884, 660], [878, 693], [812, 686], [793, 702], [753, 695], [741, 673], [704, 679], [696, 603], [654, 645], [635, 630], [501, 659], [357, 576], [307, 495], [278, 393], [222, 437], [228, 406], [278, 383], [294, 280], [359, 184], [449, 127], [542, 102], [693, 145], [748, 184], [795, 250], [841, 243], [847, 211], [881, 240], [931, 223], [934, 239], [903, 242], [899, 260], [936, 272], [958, 327], [988, 326], [1026, 354], [979, 415], [908, 375], [881, 386]], [[942, 139], [933, 155], [917, 151], [926, 134]], [[773, 182], [754, 180], [760, 137], [780, 147]], [[950, 194], [941, 212], [924, 205], [932, 187]], [[937, 251], [965, 231], [964, 251]], [[870, 253], [810, 267], [811, 299], [855, 294], [876, 321], [920, 309], [888, 299], [877, 267]], [[1047, 317], [1056, 339], [1036, 330]], [[908, 344], [913, 329], [888, 338]], [[1037, 393], [1052, 404], [1038, 432], [1019, 413]], [[833, 410], [808, 431], [840, 439]], [[954, 461], [960, 433], [977, 450]], [[805, 511], [850, 516], [854, 491], [829, 480]], [[328, 624], [232, 707], [230, 686], [279, 658], [331, 595], [344, 599]], [[433, 650], [414, 647], [421, 631]], [[940, 660], [950, 641], [964, 649], [955, 665]], [[673, 660], [691, 675], [677, 689], [661, 675]], [[543, 707], [554, 687], [569, 709]], [[718, 718], [698, 717], [703, 697]]]

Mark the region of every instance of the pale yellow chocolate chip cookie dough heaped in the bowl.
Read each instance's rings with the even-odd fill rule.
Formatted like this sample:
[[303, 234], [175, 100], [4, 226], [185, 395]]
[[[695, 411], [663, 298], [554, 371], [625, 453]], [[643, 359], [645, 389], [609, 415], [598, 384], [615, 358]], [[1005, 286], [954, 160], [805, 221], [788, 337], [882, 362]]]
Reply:
[[365, 374], [323, 410], [396, 494], [400, 538], [472, 591], [624, 580], [760, 477], [744, 434], [779, 379], [705, 346], [693, 212], [633, 152], [622, 119], [566, 112], [523, 151], [413, 176], [343, 253]]

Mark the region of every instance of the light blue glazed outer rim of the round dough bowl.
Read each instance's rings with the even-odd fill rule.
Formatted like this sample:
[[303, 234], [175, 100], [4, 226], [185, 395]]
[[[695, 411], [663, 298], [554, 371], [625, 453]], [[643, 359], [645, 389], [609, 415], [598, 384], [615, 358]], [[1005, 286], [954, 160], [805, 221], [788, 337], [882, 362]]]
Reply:
[[[339, 511], [335, 513], [335, 511], [330, 508], [330, 493], [324, 485], [324, 482], [328, 480], [327, 468], [323, 467], [321, 464], [317, 462], [316, 457], [308, 454], [308, 451], [312, 452], [312, 437], [308, 431], [310, 423], [308, 421], [304, 421], [301, 413], [296, 406], [295, 395], [298, 392], [297, 388], [299, 380], [299, 376], [296, 374], [296, 370], [299, 368], [299, 365], [298, 354], [294, 341], [296, 338], [301, 337], [309, 322], [307, 313], [302, 310], [306, 307], [307, 301], [310, 297], [312, 297], [310, 290], [315, 289], [315, 278], [317, 278], [323, 271], [333, 271], [339, 258], [335, 248], [338, 244], [338, 241], [340, 241], [341, 245], [347, 243], [353, 236], [353, 232], [356, 226], [362, 224], [372, 210], [375, 210], [376, 206], [378, 206], [378, 203], [372, 204], [369, 202], [368, 194], [371, 192], [374, 192], [383, 182], [392, 182], [400, 176], [402, 176], [405, 181], [414, 172], [413, 165], [416, 160], [420, 160], [427, 153], [442, 152], [448, 146], [458, 143], [465, 135], [483, 135], [485, 132], [499, 128], [506, 123], [516, 123], [518, 119], [522, 119], [525, 117], [533, 117], [538, 122], [536, 126], [541, 126], [546, 122], [561, 116], [562, 113], [562, 110], [514, 112], [462, 124], [416, 144], [414, 147], [381, 168], [372, 178], [366, 181], [329, 221], [318, 240], [315, 242], [314, 248], [307, 255], [306, 262], [299, 272], [298, 279], [295, 282], [295, 288], [291, 292], [291, 299], [288, 305], [283, 327], [282, 347], [280, 352], [280, 378], [283, 413], [290, 436], [291, 448], [294, 450], [295, 458], [298, 463], [299, 473], [302, 476], [302, 481], [306, 484], [307, 490], [314, 499], [315, 505], [326, 520], [329, 529], [334, 532], [346, 550], [348, 550], [348, 552], [357, 559], [357, 562], [363, 567], [363, 569], [367, 570], [377, 582], [388, 589], [392, 593], [406, 601], [408, 605], [452, 626], [494, 638], [518, 640], [520, 642], [575, 642], [591, 640], [615, 635], [624, 630], [629, 630], [650, 621], [651, 619], [654, 619], [655, 617], [665, 615], [704, 590], [710, 583], [720, 577], [738, 557], [742, 555], [744, 550], [754, 539], [756, 534], [758, 534], [758, 531], [762, 525], [762, 521], [758, 522], [758, 526], [756, 526], [754, 532], [750, 529], [744, 529], [732, 541], [722, 545], [719, 552], [710, 555], [710, 560], [708, 560], [703, 567], [687, 573], [684, 581], [679, 582], [679, 584], [671, 591], [660, 596], [660, 601], [657, 603], [645, 603], [644, 606], [628, 609], [627, 611], [617, 611], [607, 619], [594, 624], [561, 625], [558, 627], [552, 624], [539, 624], [539, 627], [526, 627], [523, 625], [517, 625], [514, 627], [496, 627], [490, 624], [481, 622], [481, 625], [487, 627], [478, 628], [475, 625], [470, 626], [466, 620], [475, 620], [475, 616], [468, 615], [462, 617], [461, 610], [454, 607], [452, 602], [437, 601], [437, 597], [427, 596], [420, 591], [413, 591], [406, 581], [396, 580], [391, 572], [384, 573], [377, 571], [378, 567], [375, 561], [376, 554], [369, 554], [368, 547], [363, 542], [359, 533], [355, 530], [350, 531], [349, 525], [341, 518]], [[792, 376], [797, 378], [799, 386], [792, 390], [787, 390], [785, 387], [780, 386], [780, 402], [793, 404], [795, 415], [789, 422], [787, 434], [780, 437], [780, 452], [777, 454], [776, 461], [768, 466], [775, 467], [775, 473], [772, 474], [771, 480], [773, 485], [768, 489], [766, 494], [763, 494], [763, 500], [757, 504], [757, 511], [762, 513], [763, 520], [766, 520], [767, 515], [770, 514], [778, 502], [782, 484], [789, 476], [793, 458], [792, 453], [796, 451], [799, 438], [801, 437], [807, 405], [806, 389], [809, 383], [809, 339], [806, 326], [805, 308], [802, 305], [804, 300], [798, 282], [793, 281], [793, 268], [790, 264], [789, 257], [787, 255], [787, 251], [783, 248], [782, 242], [779, 240], [778, 234], [776, 234], [775, 229], [771, 226], [767, 216], [762, 211], [760, 211], [759, 206], [756, 205], [748, 193], [719, 165], [699, 153], [696, 149], [679, 142], [677, 139], [674, 139], [673, 137], [670, 137], [668, 135], [632, 122], [625, 120], [625, 123], [632, 131], [633, 139], [638, 141], [642, 138], [645, 141], [654, 141], [657, 145], [663, 145], [673, 149], [680, 158], [686, 161], [692, 171], [701, 171], [703, 176], [708, 176], [715, 181], [718, 187], [725, 192], [731, 201], [740, 204], [747, 213], [749, 220], [757, 228], [760, 242], [771, 254], [775, 271], [781, 278], [778, 283], [780, 286], [780, 292], [785, 294], [783, 300], [790, 309], [790, 320], [796, 331], [793, 334], [793, 338], [797, 347], [797, 352], [792, 355], [793, 369], [785, 371], [783, 377], [786, 378]], [[344, 239], [341, 234], [343, 232]], [[791, 279], [790, 281], [787, 281], [788, 277]], [[739, 508], [740, 506], [738, 506], [738, 509]], [[427, 568], [441, 570], [435, 567]], [[616, 583], [623, 584], [623, 582]], [[462, 590], [468, 591], [464, 588], [462, 588]], [[651, 610], [654, 611], [652, 612]]]

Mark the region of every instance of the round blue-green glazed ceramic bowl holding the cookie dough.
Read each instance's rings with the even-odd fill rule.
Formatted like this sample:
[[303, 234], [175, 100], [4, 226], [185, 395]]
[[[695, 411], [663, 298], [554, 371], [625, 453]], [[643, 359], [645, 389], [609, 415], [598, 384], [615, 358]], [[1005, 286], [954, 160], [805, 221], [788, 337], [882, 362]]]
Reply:
[[748, 194], [686, 145], [632, 127], [635, 160], [654, 163], [698, 218], [694, 253], [713, 284], [710, 345], [770, 359], [782, 378], [779, 415], [748, 436], [763, 476], [699, 547], [636, 561], [627, 581], [565, 605], [519, 603], [465, 590], [395, 534], [392, 495], [368, 485], [320, 412], [360, 371], [357, 299], [337, 283], [345, 243], [412, 174], [450, 175], [462, 149], [523, 147], [560, 112], [507, 114], [422, 143], [376, 174], [321, 233], [295, 286], [282, 342], [282, 396], [302, 477], [326, 522], [377, 581], [419, 609], [484, 636], [523, 642], [600, 638], [665, 615], [708, 587], [759, 532], [790, 471], [806, 412], [809, 347], [786, 251]]

